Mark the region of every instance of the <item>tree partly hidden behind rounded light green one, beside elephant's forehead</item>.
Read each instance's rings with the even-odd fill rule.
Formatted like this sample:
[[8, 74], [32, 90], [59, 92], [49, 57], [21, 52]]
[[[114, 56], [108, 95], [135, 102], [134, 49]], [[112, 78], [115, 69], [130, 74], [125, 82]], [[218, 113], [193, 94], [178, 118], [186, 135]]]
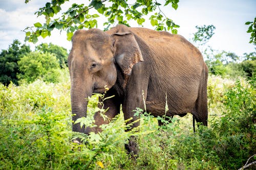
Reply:
[[68, 66], [68, 52], [66, 48], [54, 45], [50, 42], [49, 44], [41, 43], [40, 45], [37, 45], [35, 47], [35, 50], [41, 53], [51, 53], [55, 55], [56, 58], [59, 60], [59, 65], [61, 68], [64, 65]]

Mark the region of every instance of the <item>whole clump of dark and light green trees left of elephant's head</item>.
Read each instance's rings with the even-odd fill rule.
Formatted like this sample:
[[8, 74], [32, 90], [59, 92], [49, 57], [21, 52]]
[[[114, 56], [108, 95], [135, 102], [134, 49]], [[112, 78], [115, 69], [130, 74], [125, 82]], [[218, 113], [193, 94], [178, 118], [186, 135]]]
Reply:
[[11, 82], [59, 82], [67, 72], [68, 52], [52, 43], [42, 43], [31, 52], [26, 44], [14, 40], [8, 50], [0, 53], [0, 82], [8, 86]]

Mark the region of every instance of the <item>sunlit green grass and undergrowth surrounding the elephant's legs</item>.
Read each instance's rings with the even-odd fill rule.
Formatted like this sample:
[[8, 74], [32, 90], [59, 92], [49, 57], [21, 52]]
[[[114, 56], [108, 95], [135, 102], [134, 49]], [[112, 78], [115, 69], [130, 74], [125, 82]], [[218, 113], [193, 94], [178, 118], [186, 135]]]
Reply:
[[[238, 169], [256, 153], [255, 79], [209, 77], [209, 125], [196, 133], [191, 114], [159, 128], [138, 110], [137, 130], [125, 132], [130, 126], [120, 113], [100, 134], [73, 134], [69, 89], [69, 79], [0, 85], [0, 169]], [[92, 123], [96, 106], [94, 96], [82, 123]], [[132, 135], [139, 143], [136, 161], [124, 149]], [[77, 136], [86, 144], [73, 143]]]

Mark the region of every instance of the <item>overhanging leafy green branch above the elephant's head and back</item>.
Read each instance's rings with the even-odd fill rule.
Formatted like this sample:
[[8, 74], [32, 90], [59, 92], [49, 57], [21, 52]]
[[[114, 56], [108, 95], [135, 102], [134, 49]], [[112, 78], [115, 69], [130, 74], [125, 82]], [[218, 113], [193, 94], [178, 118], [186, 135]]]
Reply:
[[[179, 0], [165, 0], [163, 5], [157, 1], [152, 0], [136, 0], [134, 4], [129, 4], [131, 1], [120, 0], [92, 0], [85, 1], [87, 4], [73, 4], [68, 11], [62, 12], [61, 17], [57, 14], [61, 11], [61, 6], [68, 0], [52, 0], [51, 3], [46, 3], [35, 14], [37, 16], [45, 16], [45, 23], [36, 22], [34, 27], [27, 27], [25, 40], [30, 42], [37, 42], [37, 37], [45, 38], [51, 35], [53, 29], [66, 30], [67, 39], [71, 40], [73, 32], [82, 28], [97, 27], [97, 19], [99, 16], [106, 17], [104, 22], [105, 30], [111, 26], [124, 24], [129, 26], [128, 21], [137, 21], [138, 25], [142, 25], [146, 19], [145, 16], [150, 16], [147, 20], [156, 30], [171, 30], [176, 34], [176, 28], [179, 28], [172, 19], [166, 17], [161, 10], [161, 7], [172, 5], [176, 10], [178, 8]], [[25, 3], [28, 3], [26, 0]], [[93, 13], [93, 10], [97, 13]], [[155, 12], [155, 13], [154, 13]], [[59, 16], [59, 15], [58, 15]]]

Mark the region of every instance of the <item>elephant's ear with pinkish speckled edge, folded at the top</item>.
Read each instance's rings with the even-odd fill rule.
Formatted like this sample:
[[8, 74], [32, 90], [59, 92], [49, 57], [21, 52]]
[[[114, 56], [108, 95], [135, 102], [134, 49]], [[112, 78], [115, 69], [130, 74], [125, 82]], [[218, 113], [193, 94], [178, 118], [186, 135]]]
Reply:
[[114, 57], [125, 76], [131, 75], [133, 66], [143, 61], [139, 45], [132, 33], [115, 33]]

